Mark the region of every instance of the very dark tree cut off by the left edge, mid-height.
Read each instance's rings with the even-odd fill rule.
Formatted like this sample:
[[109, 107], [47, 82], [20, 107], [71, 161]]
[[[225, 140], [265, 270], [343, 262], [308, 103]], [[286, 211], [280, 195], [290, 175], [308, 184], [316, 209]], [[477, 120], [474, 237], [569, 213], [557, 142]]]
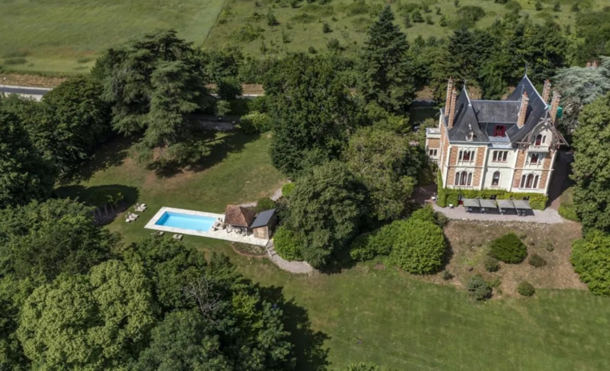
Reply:
[[0, 209], [45, 200], [55, 182], [55, 168], [38, 154], [18, 118], [2, 110], [0, 169]]

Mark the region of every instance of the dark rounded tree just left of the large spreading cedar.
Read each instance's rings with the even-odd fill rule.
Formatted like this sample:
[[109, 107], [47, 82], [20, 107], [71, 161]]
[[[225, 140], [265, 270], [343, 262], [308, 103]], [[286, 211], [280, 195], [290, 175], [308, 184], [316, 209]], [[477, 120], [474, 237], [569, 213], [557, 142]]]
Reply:
[[71, 77], [43, 96], [51, 110], [53, 156], [64, 173], [75, 170], [110, 136], [110, 107], [90, 76]]

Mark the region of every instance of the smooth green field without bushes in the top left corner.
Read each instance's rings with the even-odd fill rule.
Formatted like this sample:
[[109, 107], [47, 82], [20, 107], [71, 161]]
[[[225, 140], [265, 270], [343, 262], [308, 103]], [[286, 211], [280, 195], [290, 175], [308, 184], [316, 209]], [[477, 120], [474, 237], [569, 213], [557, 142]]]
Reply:
[[0, 64], [20, 71], [84, 71], [104, 49], [157, 28], [174, 28], [182, 38], [199, 44], [223, 4], [224, 0], [0, 0]]

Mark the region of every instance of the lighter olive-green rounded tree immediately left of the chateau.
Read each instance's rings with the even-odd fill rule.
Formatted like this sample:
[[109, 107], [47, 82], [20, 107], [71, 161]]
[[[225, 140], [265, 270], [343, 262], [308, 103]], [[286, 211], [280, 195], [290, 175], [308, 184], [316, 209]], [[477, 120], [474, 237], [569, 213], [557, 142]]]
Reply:
[[409, 142], [389, 131], [362, 128], [342, 154], [343, 161], [367, 187], [378, 220], [403, 214], [421, 167], [418, 154]]

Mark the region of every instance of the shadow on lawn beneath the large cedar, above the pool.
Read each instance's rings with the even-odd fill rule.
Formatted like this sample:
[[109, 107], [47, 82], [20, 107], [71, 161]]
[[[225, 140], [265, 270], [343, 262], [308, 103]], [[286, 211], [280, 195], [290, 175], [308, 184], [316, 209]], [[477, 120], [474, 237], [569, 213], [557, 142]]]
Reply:
[[193, 164], [184, 164], [177, 161], [156, 160], [146, 168], [153, 170], [159, 178], [171, 178], [182, 173], [183, 170], [203, 171], [222, 162], [229, 153], [239, 153], [243, 151], [245, 145], [259, 138], [259, 135], [244, 134], [240, 131], [228, 132], [222, 137], [216, 137], [215, 131], [203, 131], [199, 140], [207, 146], [209, 151], [206, 156]]

